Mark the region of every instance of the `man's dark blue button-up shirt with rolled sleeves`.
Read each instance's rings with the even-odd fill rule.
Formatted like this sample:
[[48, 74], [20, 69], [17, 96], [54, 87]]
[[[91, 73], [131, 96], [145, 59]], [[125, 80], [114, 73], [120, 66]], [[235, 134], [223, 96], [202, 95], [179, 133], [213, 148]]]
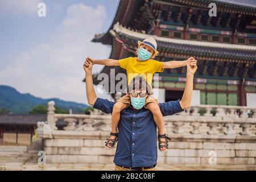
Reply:
[[[115, 102], [97, 98], [93, 107], [112, 113]], [[179, 100], [160, 103], [163, 116], [183, 111]], [[156, 164], [156, 125], [150, 110], [129, 106], [121, 111], [118, 124], [118, 143], [114, 163], [126, 167], [148, 167]]]

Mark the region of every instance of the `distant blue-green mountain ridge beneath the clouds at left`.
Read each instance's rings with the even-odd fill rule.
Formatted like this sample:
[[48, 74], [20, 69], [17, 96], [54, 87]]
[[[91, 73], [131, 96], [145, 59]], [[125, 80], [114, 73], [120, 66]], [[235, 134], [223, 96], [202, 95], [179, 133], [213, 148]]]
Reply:
[[0, 85], [0, 108], [5, 107], [15, 114], [28, 113], [36, 105], [47, 105], [49, 101], [54, 101], [61, 109], [72, 109], [73, 113], [81, 113], [88, 107], [85, 104], [63, 101], [59, 98], [43, 99], [29, 93], [22, 94], [11, 86]]

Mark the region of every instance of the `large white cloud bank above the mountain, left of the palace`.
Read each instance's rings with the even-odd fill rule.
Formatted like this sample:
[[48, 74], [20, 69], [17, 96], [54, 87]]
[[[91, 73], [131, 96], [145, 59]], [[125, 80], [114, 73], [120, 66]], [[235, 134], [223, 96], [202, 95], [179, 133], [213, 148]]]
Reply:
[[[91, 42], [105, 19], [104, 6], [98, 5], [96, 9], [82, 3], [69, 6], [67, 16], [48, 43], [20, 53], [11, 67], [0, 71], [1, 84], [38, 97], [87, 103], [82, 65], [86, 56], [109, 57], [109, 47]], [[99, 72], [102, 66], [95, 65], [93, 69]], [[108, 94], [101, 97], [110, 98]]]

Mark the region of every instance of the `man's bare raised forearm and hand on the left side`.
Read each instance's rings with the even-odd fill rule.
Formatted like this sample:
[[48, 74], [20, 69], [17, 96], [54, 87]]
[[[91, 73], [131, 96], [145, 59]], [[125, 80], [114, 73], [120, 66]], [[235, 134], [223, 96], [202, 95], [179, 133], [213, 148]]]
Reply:
[[86, 77], [86, 82], [85, 82], [86, 96], [87, 96], [88, 104], [93, 106], [97, 100], [97, 95], [93, 87], [92, 65], [93, 65], [92, 63], [89, 63], [88, 67], [86, 67], [84, 63], [84, 71], [85, 71], [85, 77]]

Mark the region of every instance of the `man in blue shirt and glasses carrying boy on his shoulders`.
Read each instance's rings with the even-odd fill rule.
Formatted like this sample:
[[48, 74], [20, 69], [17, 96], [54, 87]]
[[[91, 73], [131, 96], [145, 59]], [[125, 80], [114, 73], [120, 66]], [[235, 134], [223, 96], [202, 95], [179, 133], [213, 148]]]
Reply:
[[[163, 116], [179, 113], [191, 105], [193, 92], [193, 76], [197, 66], [187, 65], [187, 81], [181, 100], [160, 103], [160, 110]], [[86, 77], [86, 94], [88, 104], [104, 113], [112, 113], [115, 102], [98, 98], [93, 88], [92, 63], [84, 64]], [[139, 81], [138, 81], [139, 80]], [[129, 85], [129, 96], [147, 97], [147, 82], [143, 79], [135, 79]], [[141, 93], [145, 93], [141, 94]], [[137, 94], [134, 94], [137, 93]], [[154, 170], [157, 160], [156, 147], [156, 125], [150, 110], [142, 107], [135, 109], [135, 103], [121, 111], [121, 118], [118, 124], [118, 144], [115, 151], [115, 170]], [[168, 141], [167, 141], [168, 142]], [[168, 143], [166, 142], [166, 147]]]

